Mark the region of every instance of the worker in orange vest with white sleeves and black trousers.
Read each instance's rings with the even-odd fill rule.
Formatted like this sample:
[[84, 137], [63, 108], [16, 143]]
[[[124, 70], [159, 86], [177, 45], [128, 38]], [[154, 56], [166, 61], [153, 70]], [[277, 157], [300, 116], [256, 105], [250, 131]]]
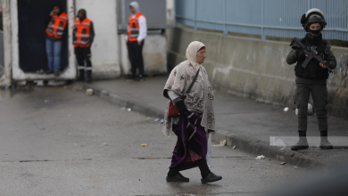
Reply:
[[[144, 61], [143, 46], [147, 35], [147, 25], [145, 15], [139, 11], [139, 4], [132, 2], [129, 4], [132, 15], [128, 19], [127, 48], [128, 58], [131, 65], [131, 76], [127, 80], [144, 80]], [[137, 69], [139, 71], [136, 77]]]

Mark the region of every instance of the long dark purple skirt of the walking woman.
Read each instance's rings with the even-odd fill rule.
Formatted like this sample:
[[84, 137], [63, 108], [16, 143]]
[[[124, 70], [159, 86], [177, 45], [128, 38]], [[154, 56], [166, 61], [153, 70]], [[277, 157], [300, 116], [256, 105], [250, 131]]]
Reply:
[[170, 168], [179, 171], [197, 167], [196, 160], [206, 161], [208, 140], [204, 127], [201, 126], [202, 115], [187, 112], [180, 115], [178, 125], [173, 125], [173, 132], [178, 136]]

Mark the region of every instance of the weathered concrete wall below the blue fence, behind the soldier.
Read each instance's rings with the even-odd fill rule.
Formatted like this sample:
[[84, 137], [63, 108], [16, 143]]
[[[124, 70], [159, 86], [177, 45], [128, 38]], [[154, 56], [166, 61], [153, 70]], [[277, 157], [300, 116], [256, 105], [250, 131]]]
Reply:
[[[207, 47], [203, 63], [214, 87], [260, 102], [294, 108], [294, 65], [287, 65], [289, 43], [223, 36], [192, 29], [167, 32], [168, 66], [185, 61], [187, 45], [201, 41]], [[335, 75], [327, 80], [329, 114], [348, 119], [348, 49], [333, 47], [337, 59]]]

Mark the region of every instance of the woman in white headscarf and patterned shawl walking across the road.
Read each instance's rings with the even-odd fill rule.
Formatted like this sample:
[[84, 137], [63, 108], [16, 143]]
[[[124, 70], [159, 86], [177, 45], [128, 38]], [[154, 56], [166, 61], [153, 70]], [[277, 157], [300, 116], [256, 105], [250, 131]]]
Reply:
[[163, 95], [169, 99], [165, 111], [163, 133], [178, 136], [171, 159], [167, 182], [188, 182], [179, 171], [199, 167], [202, 183], [222, 179], [215, 176], [206, 161], [207, 135], [215, 129], [212, 101], [214, 94], [207, 72], [202, 66], [205, 46], [192, 42], [186, 49], [186, 61], [170, 72]]

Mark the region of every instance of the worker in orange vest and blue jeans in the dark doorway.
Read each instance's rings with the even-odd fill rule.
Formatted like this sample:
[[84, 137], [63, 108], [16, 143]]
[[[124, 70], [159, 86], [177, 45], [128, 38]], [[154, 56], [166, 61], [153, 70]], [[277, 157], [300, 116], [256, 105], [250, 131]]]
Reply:
[[47, 74], [59, 76], [61, 69], [62, 37], [66, 35], [68, 14], [62, 11], [61, 4], [54, 4], [48, 18], [46, 29], [46, 53], [48, 60]]

